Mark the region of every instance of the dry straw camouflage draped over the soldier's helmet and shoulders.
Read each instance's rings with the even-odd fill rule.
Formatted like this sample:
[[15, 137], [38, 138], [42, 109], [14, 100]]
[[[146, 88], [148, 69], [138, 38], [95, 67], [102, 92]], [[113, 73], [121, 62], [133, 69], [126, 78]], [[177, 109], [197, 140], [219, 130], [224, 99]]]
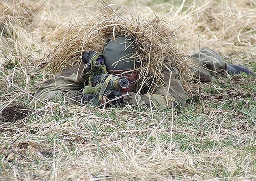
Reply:
[[[88, 15], [87, 12], [87, 18], [83, 21], [70, 23], [60, 45], [47, 57], [51, 62], [47, 68], [56, 73], [67, 66], [74, 66], [81, 62], [83, 51], [102, 51], [108, 35], [119, 32], [136, 41], [138, 51], [135, 58], [141, 64], [141, 86], [148, 85], [150, 90], [154, 90], [156, 83], [162, 78], [162, 67], [164, 64], [171, 64], [180, 71], [184, 88], [188, 91], [190, 69], [194, 63], [176, 48], [173, 24], [156, 14], [144, 18], [138, 11], [117, 6], [119, 9], [116, 12], [115, 7], [116, 5], [106, 5], [95, 14]], [[153, 84], [150, 83], [152, 79]]]

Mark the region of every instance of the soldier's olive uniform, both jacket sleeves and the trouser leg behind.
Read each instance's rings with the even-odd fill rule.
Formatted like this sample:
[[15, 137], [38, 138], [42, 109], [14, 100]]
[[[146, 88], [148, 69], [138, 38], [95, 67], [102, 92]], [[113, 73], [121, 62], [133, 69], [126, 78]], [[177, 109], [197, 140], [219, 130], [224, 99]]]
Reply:
[[[226, 70], [226, 63], [218, 53], [211, 49], [203, 48], [190, 56], [198, 62], [200, 67], [194, 68], [193, 71], [203, 82], [212, 81], [212, 76]], [[80, 66], [68, 67], [61, 73], [57, 73], [52, 79], [43, 82], [35, 95], [37, 98], [47, 100], [66, 99], [72, 103], [80, 103], [84, 81], [88, 79], [83, 76], [86, 71], [83, 63]], [[163, 68], [162, 73], [163, 81], [159, 83], [153, 94], [136, 95], [136, 99], [134, 99], [135, 94], [128, 93], [131, 97], [125, 97], [124, 102], [147, 104], [158, 109], [172, 106], [172, 102], [184, 106], [187, 97], [179, 79], [178, 70], [174, 67]]]

